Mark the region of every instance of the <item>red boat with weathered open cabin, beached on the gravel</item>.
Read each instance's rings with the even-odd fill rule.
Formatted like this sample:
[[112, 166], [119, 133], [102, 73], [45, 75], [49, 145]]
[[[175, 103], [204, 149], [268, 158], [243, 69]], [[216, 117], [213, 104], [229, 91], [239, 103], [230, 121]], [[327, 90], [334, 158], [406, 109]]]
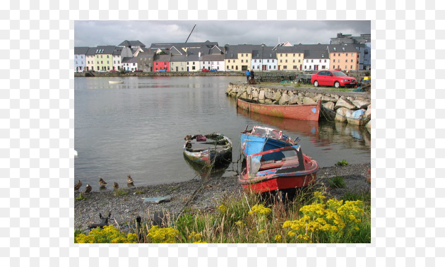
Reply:
[[248, 155], [238, 181], [246, 190], [255, 193], [277, 190], [283, 198], [286, 189], [310, 185], [318, 169], [317, 162], [303, 154], [300, 145], [281, 147]]

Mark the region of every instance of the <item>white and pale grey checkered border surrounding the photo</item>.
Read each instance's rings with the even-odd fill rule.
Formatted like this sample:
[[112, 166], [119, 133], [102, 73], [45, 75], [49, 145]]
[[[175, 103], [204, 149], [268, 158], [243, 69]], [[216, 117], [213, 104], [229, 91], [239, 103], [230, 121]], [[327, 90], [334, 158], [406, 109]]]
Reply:
[[[444, 15], [441, 1], [2, 1], [0, 265], [443, 266]], [[74, 20], [128, 19], [372, 20], [372, 243], [74, 244]]]

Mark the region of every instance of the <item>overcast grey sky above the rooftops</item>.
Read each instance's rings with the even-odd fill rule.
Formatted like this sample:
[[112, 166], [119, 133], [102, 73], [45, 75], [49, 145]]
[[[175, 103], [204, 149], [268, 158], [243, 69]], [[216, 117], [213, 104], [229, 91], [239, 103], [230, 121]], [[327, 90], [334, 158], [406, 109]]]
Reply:
[[139, 40], [147, 47], [153, 43], [183, 43], [193, 26], [187, 43], [218, 42], [218, 45], [275, 46], [280, 42], [292, 45], [328, 44], [337, 33], [371, 33], [371, 21], [227, 21], [227, 20], [152, 20], [152, 21], [75, 21], [74, 45], [119, 45], [123, 41]]

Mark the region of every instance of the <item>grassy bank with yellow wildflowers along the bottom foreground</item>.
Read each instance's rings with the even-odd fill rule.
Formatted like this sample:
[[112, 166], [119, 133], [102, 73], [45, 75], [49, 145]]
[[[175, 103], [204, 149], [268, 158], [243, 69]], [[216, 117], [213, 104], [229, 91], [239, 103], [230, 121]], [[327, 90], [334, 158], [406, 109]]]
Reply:
[[[252, 193], [224, 195], [208, 211], [167, 216], [159, 228], [142, 223], [143, 243], [370, 243], [370, 192], [329, 198], [318, 188], [298, 190], [292, 200]], [[136, 230], [124, 234], [112, 226], [85, 235], [79, 243], [138, 242]]]

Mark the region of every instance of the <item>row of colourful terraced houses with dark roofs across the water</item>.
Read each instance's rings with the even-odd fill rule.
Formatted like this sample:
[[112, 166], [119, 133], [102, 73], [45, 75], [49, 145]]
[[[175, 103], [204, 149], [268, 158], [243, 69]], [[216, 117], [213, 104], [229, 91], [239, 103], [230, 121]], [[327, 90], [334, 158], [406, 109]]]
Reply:
[[[370, 38], [370, 36], [369, 36]], [[120, 45], [75, 47], [75, 71], [194, 72], [217, 71], [303, 71], [321, 69], [363, 70], [370, 57], [366, 44], [316, 44], [275, 46], [229, 45], [216, 42], [152, 44], [139, 41]], [[368, 51], [369, 50], [369, 51]], [[366, 53], [365, 53], [366, 51]], [[366, 55], [366, 56], [365, 56]]]

